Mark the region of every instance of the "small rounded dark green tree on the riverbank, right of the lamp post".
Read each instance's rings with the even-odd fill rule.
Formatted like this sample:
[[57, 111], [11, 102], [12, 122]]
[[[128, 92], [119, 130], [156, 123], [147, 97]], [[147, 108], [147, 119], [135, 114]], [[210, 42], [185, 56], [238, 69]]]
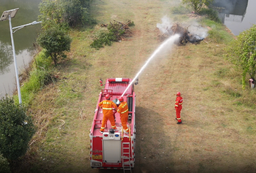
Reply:
[[46, 56], [50, 56], [57, 66], [58, 60], [66, 57], [64, 53], [70, 51], [72, 39], [60, 27], [50, 27], [45, 29], [36, 41], [45, 49]]

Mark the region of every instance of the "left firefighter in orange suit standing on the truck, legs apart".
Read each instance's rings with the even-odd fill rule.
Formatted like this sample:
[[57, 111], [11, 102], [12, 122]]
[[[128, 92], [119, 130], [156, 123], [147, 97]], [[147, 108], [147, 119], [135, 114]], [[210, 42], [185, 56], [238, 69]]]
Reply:
[[117, 109], [117, 105], [110, 100], [110, 95], [106, 94], [105, 96], [106, 100], [103, 100], [101, 103], [99, 103], [99, 107], [103, 109], [103, 120], [100, 132], [103, 133], [105, 129], [106, 121], [109, 120], [111, 123], [112, 129], [116, 129], [115, 119], [113, 117], [113, 109]]

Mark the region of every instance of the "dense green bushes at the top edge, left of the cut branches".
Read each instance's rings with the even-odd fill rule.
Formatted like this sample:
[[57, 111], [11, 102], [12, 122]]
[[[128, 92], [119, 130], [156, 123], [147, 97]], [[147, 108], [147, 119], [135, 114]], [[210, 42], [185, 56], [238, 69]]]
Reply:
[[90, 17], [91, 0], [43, 0], [39, 4], [39, 20], [48, 27], [80, 27], [95, 23]]

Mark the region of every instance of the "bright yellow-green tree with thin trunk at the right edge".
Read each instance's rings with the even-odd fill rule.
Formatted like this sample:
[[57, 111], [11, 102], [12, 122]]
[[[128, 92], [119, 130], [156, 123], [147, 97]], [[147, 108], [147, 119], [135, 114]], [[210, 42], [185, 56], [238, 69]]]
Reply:
[[242, 88], [245, 89], [246, 74], [256, 74], [256, 25], [241, 32], [237, 40], [226, 47], [226, 59], [242, 70]]

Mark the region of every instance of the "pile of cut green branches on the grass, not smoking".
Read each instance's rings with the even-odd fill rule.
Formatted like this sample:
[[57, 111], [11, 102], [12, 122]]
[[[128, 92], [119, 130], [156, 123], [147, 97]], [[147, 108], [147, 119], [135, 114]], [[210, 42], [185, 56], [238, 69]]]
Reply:
[[131, 37], [133, 34], [129, 29], [130, 26], [135, 26], [131, 20], [127, 20], [125, 23], [114, 20], [114, 23], [101, 24], [101, 27], [107, 27], [108, 33], [101, 33], [99, 38], [93, 40], [90, 46], [99, 49], [103, 47], [103, 44], [110, 46], [113, 41], [125, 40], [124, 37]]

